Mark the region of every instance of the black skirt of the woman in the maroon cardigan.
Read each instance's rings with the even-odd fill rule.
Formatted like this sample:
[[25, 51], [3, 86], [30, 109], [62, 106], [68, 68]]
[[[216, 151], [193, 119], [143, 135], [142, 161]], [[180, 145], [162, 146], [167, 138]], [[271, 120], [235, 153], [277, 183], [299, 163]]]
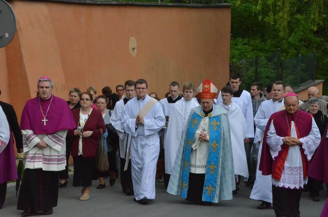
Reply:
[[73, 186], [88, 187], [92, 185], [94, 157], [74, 157]]

